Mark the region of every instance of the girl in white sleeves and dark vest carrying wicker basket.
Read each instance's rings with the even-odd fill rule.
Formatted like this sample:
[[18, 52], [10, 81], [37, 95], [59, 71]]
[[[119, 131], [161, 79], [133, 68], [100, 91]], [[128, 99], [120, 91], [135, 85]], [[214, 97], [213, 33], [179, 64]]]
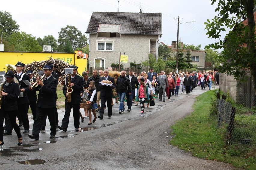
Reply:
[[95, 87], [95, 82], [94, 81], [90, 81], [89, 83], [89, 88], [87, 91], [87, 95], [88, 95], [88, 99], [89, 99], [89, 104], [91, 104], [91, 106], [89, 107], [88, 111], [89, 111], [89, 123], [88, 125], [92, 124], [92, 111], [93, 111], [93, 123], [96, 121], [97, 119], [97, 115], [96, 115], [96, 109], [98, 108], [98, 105], [96, 103], [97, 101], [97, 90]]

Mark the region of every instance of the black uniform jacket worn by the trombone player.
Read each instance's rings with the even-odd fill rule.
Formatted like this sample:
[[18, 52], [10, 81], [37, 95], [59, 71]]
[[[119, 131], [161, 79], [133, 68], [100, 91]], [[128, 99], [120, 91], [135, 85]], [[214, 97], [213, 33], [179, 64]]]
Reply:
[[55, 92], [58, 85], [58, 80], [50, 76], [46, 81], [43, 81], [44, 86], [37, 86], [35, 89], [38, 91], [38, 101], [36, 106], [42, 108], [56, 107]]

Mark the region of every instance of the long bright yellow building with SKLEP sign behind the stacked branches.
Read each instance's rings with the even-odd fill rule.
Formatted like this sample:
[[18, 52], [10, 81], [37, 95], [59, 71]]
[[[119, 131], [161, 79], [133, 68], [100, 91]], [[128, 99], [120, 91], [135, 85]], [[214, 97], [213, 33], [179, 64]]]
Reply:
[[68, 64], [74, 64], [78, 66], [78, 72], [81, 74], [83, 71], [87, 71], [87, 54], [84, 57], [81, 51], [75, 51], [74, 53], [51, 53], [51, 52], [19, 52], [19, 51], [0, 51], [0, 71], [5, 71], [5, 64], [17, 64], [18, 61], [24, 64], [30, 64], [33, 61], [49, 60], [49, 57], [53, 59], [63, 60]]

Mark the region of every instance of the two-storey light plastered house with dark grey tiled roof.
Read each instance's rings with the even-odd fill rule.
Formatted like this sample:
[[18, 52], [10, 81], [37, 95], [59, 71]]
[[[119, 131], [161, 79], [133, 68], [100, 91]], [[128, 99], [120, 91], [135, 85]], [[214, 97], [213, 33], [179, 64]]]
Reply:
[[119, 63], [119, 55], [128, 56], [128, 63], [141, 63], [148, 54], [158, 55], [162, 36], [161, 13], [93, 12], [87, 31], [90, 34], [89, 67], [107, 68]]

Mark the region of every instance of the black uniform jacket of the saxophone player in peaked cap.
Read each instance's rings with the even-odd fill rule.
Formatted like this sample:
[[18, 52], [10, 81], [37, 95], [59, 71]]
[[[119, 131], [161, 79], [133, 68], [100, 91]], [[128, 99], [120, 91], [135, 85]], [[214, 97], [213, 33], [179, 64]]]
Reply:
[[[73, 89], [73, 92], [71, 93], [71, 104], [79, 104], [81, 103], [80, 92], [84, 90], [84, 80], [82, 77], [75, 75], [71, 83], [75, 84], [73, 87], [71, 87]], [[68, 77], [66, 77], [66, 85], [68, 86]], [[67, 87], [64, 85], [62, 90], [63, 90], [63, 94], [66, 97]], [[68, 98], [66, 97], [65, 102], [67, 101], [68, 101]]]

